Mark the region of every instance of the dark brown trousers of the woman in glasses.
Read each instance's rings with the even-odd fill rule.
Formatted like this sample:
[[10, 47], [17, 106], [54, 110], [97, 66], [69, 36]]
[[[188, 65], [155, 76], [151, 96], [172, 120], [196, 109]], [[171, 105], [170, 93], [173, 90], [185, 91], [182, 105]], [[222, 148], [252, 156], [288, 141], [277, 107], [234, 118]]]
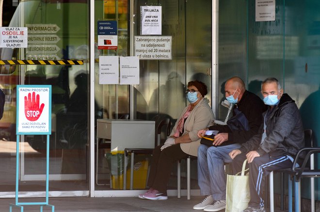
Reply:
[[186, 158], [188, 154], [181, 150], [180, 144], [172, 145], [162, 151], [160, 148], [161, 146], [158, 146], [153, 150], [147, 186], [164, 193], [173, 165], [177, 160]]

